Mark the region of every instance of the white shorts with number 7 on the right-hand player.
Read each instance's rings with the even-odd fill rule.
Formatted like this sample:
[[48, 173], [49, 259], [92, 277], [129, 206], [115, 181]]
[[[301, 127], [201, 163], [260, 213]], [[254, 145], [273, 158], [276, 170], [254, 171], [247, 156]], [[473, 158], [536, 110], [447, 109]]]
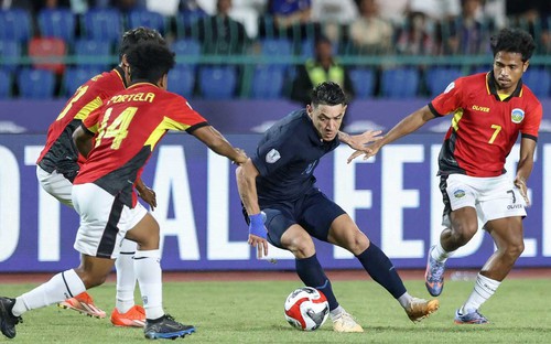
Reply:
[[464, 174], [450, 174], [445, 184], [449, 204], [445, 204], [442, 225], [450, 227], [450, 208], [456, 211], [465, 206], [476, 209], [483, 224], [488, 221], [526, 216], [526, 202], [509, 176], [477, 178]]

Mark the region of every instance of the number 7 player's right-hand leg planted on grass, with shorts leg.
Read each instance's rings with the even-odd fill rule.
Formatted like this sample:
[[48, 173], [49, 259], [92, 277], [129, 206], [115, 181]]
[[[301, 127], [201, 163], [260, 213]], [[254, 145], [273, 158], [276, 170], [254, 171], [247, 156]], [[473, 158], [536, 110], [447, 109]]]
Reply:
[[497, 250], [480, 269], [473, 292], [455, 313], [455, 323], [485, 324], [488, 320], [478, 310], [497, 290], [525, 249], [522, 217], [523, 198], [507, 178], [486, 183], [484, 201], [477, 209], [484, 228], [491, 235]]

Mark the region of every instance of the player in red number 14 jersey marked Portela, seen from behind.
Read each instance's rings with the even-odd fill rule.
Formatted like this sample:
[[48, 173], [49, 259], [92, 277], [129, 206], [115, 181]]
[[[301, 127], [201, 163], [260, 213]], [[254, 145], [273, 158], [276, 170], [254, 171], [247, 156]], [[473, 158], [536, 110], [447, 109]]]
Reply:
[[82, 264], [17, 299], [0, 298], [0, 330], [8, 337], [15, 336], [24, 312], [100, 286], [114, 267], [122, 238], [138, 243], [134, 270], [145, 309], [145, 337], [176, 338], [195, 332], [194, 326], [164, 313], [159, 224], [137, 202], [134, 184], [154, 147], [171, 129], [195, 136], [235, 163], [244, 163], [247, 155], [231, 147], [186, 99], [166, 92], [168, 73], [175, 64], [166, 46], [139, 44], [127, 58], [129, 88], [114, 95], [73, 135], [87, 158], [73, 186], [73, 204], [80, 215], [75, 248], [82, 254]]

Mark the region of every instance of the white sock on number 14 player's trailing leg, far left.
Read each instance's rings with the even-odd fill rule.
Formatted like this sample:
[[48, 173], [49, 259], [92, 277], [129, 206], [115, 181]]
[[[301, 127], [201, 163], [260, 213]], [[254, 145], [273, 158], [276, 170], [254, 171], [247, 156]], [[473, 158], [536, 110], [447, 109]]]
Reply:
[[71, 269], [52, 277], [47, 282], [15, 299], [12, 313], [15, 316], [26, 311], [71, 299], [86, 290], [83, 280]]

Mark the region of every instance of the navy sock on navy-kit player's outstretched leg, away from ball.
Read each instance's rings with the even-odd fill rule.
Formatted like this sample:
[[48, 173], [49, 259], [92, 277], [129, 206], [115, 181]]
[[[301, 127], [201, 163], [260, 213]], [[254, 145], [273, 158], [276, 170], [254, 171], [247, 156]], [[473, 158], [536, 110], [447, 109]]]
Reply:
[[406, 287], [398, 272], [396, 272], [395, 266], [374, 243], [370, 243], [369, 247], [356, 258], [358, 258], [374, 281], [387, 289], [395, 299], [406, 293]]

